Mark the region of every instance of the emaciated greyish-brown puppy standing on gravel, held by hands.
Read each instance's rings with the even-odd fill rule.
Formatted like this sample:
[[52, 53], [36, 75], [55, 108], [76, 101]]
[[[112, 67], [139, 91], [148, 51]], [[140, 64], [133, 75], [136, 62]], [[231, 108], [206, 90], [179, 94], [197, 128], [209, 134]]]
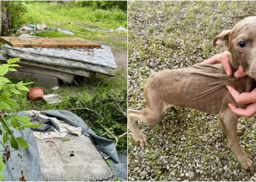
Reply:
[[[240, 116], [233, 113], [228, 103], [235, 103], [226, 85], [239, 92], [250, 92], [256, 82], [256, 16], [247, 17], [232, 30], [223, 31], [213, 39], [213, 46], [232, 53], [229, 62], [234, 70], [242, 65], [248, 76], [228, 77], [221, 64], [195, 64], [176, 70], [152, 74], [144, 86], [147, 106], [143, 110], [128, 110], [129, 125], [135, 143], [147, 146], [147, 136], [138, 127], [138, 120], [155, 125], [161, 121], [168, 107], [182, 106], [206, 113], [219, 114], [217, 127], [227, 135], [228, 148], [246, 169], [254, 171], [254, 162], [240, 146], [238, 135], [244, 127], [237, 125]], [[254, 79], [252, 79], [254, 78]], [[237, 105], [245, 108], [247, 105]]]

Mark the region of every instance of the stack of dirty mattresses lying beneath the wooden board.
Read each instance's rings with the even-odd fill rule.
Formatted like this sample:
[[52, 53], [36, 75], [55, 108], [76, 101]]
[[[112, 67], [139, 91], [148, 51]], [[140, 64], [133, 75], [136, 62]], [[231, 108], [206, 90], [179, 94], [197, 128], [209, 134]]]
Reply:
[[[21, 37], [30, 37], [22, 34]], [[101, 48], [24, 48], [3, 45], [0, 60], [19, 57], [19, 72], [52, 76], [72, 83], [76, 76], [95, 77], [95, 74], [114, 76], [117, 69], [109, 46]]]

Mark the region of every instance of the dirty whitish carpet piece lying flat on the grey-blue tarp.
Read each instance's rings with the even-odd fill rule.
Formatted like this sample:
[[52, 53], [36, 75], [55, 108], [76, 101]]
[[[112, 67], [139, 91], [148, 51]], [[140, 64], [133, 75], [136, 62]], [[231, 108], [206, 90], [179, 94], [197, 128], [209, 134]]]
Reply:
[[98, 149], [89, 137], [67, 134], [59, 138], [36, 139], [44, 181], [109, 181], [114, 179]]

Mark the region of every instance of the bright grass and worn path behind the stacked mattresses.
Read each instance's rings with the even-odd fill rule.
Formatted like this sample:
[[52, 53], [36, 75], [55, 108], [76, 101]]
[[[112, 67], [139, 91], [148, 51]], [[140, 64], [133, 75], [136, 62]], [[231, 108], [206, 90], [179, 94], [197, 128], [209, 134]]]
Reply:
[[[24, 6], [28, 11], [22, 15], [21, 24], [45, 22], [50, 27], [70, 29], [76, 37], [93, 41], [104, 41], [104, 43], [127, 48], [126, 33], [97, 31], [116, 30], [120, 26], [127, 28], [127, 14], [119, 9], [93, 10], [90, 7], [78, 7], [75, 2], [70, 2], [70, 4], [24, 2]], [[55, 32], [40, 33], [39, 35], [51, 37], [65, 35]]]

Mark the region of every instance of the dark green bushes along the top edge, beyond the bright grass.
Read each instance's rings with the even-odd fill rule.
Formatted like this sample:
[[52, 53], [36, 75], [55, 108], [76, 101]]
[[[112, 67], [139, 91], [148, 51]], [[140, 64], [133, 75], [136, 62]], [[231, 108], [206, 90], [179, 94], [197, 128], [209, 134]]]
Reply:
[[93, 9], [120, 9], [127, 12], [127, 1], [76, 1], [81, 7], [92, 7]]

